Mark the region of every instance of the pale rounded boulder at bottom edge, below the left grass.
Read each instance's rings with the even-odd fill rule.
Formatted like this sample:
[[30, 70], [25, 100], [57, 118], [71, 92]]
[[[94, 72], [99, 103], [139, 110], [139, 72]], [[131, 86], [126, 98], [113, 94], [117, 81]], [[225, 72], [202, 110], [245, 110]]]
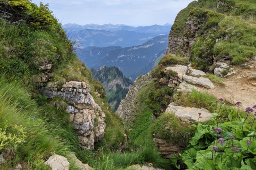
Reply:
[[45, 162], [52, 170], [69, 170], [68, 159], [60, 155], [52, 155]]

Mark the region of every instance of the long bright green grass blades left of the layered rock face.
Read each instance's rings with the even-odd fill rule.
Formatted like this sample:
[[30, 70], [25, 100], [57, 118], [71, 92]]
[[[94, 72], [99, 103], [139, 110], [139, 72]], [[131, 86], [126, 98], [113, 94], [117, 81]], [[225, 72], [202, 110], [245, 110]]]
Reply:
[[[45, 161], [52, 154], [60, 154], [69, 159], [70, 153], [79, 151], [79, 148], [77, 137], [67, 121], [68, 114], [51, 113], [52, 118], [49, 114], [45, 115], [20, 84], [20, 81], [0, 77], [0, 122], [22, 125], [27, 132], [25, 142], [17, 149], [19, 159], [27, 160], [28, 166], [34, 168], [41, 166], [38, 162]], [[74, 163], [70, 163], [74, 167]]]

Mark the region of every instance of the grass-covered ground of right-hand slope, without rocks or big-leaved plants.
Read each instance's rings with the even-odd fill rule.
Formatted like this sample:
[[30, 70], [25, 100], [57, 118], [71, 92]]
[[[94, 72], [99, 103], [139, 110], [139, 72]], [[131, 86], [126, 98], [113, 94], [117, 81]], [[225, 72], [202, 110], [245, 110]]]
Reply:
[[[255, 1], [223, 1], [225, 4], [215, 8], [219, 0], [199, 0], [190, 3], [187, 8], [179, 12], [172, 26], [172, 36], [189, 36], [186, 34], [186, 21], [190, 19], [199, 22], [200, 32], [196, 43], [190, 49], [190, 62], [192, 61], [195, 68], [209, 70], [210, 64], [205, 64], [203, 59], [208, 59], [210, 55], [215, 55], [221, 61], [224, 55], [232, 56], [230, 62], [232, 64], [239, 64], [250, 60], [255, 56]], [[249, 4], [252, 4], [251, 6]], [[212, 11], [212, 9], [214, 11]], [[234, 10], [236, 9], [236, 10]], [[250, 15], [249, 15], [250, 14]], [[213, 29], [218, 27], [218, 29]], [[182, 34], [184, 33], [184, 34]], [[208, 33], [208, 34], [207, 34]], [[209, 34], [210, 33], [210, 34]], [[229, 39], [215, 42], [217, 38], [227, 36]], [[202, 62], [200, 62], [202, 60]], [[197, 62], [199, 61], [199, 62]], [[188, 59], [182, 56], [166, 55], [159, 62], [151, 74], [153, 78], [168, 78], [173, 73], [164, 73], [164, 67], [175, 64], [187, 64]], [[207, 75], [212, 78], [213, 76]], [[216, 78], [213, 78], [216, 79]], [[221, 80], [216, 80], [216, 83], [221, 84]], [[162, 89], [162, 91], [161, 91]], [[152, 82], [151, 85], [143, 87], [136, 96], [137, 106], [133, 110], [135, 115], [132, 123], [125, 124], [126, 128], [132, 128], [130, 132], [130, 140], [133, 147], [140, 147], [141, 145], [152, 146], [152, 135], [155, 137], [175, 142], [182, 146], [188, 144], [188, 138], [195, 133], [194, 127], [182, 127], [182, 123], [178, 119], [168, 114], [163, 113], [166, 104], [170, 101], [176, 102], [177, 105], [190, 107], [204, 107], [209, 109], [212, 113], [219, 111], [219, 105], [216, 107], [214, 96], [208, 93], [192, 92], [189, 95], [181, 94], [180, 97], [176, 95], [175, 98], [166, 98], [165, 95], [157, 97], [157, 93], [166, 94], [168, 87], [165, 88], [157, 81]], [[164, 97], [163, 97], [164, 96]], [[230, 107], [231, 106], [231, 107]], [[162, 109], [162, 110], [161, 110]], [[235, 115], [236, 110], [232, 104], [226, 103], [220, 110], [220, 122], [228, 121], [228, 114]], [[244, 116], [243, 113], [240, 113]], [[177, 133], [173, 133], [173, 129], [166, 127], [173, 127]], [[182, 141], [179, 143], [177, 141]], [[151, 140], [151, 142], [149, 141]], [[146, 144], [145, 144], [145, 141]]]

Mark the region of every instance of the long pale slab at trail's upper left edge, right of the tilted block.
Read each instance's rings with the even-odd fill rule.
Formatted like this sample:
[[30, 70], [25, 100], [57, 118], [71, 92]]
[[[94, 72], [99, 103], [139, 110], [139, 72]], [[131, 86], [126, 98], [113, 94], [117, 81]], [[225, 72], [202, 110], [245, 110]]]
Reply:
[[191, 82], [193, 84], [201, 85], [206, 88], [211, 88], [211, 89], [215, 88], [215, 86], [213, 85], [213, 83], [209, 78], [204, 78], [204, 77], [196, 78], [196, 77], [187, 76], [187, 75], [184, 75], [183, 78], [186, 82]]

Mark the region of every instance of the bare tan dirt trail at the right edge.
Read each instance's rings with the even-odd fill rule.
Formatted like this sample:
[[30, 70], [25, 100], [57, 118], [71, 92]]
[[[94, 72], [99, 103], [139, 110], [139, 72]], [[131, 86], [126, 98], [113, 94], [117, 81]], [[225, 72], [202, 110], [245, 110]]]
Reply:
[[241, 101], [241, 109], [253, 107], [256, 104], [256, 86], [252, 83], [256, 83], [256, 79], [250, 78], [250, 75], [256, 72], [256, 61], [250, 65], [254, 65], [254, 68], [236, 67], [236, 74], [223, 79], [225, 85], [215, 85], [215, 89], [207, 89], [207, 91], [218, 99], [223, 98], [232, 103]]

